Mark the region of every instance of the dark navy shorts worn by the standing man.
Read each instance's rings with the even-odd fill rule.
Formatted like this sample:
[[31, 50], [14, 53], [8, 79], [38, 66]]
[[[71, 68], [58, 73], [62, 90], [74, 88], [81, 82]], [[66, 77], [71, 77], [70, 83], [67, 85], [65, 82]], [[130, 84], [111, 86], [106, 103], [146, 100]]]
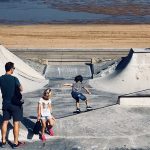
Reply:
[[3, 107], [3, 121], [10, 120], [13, 117], [13, 121], [21, 121], [23, 118], [23, 108], [8, 104]]

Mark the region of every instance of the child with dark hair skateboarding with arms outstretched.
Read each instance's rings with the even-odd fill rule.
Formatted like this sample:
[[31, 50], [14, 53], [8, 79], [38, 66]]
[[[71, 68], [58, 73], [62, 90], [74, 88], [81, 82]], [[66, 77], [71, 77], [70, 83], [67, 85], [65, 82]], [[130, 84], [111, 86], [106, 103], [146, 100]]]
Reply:
[[83, 77], [81, 75], [78, 75], [75, 77], [74, 81], [75, 83], [73, 84], [66, 83], [64, 84], [64, 86], [72, 87], [71, 95], [76, 100], [76, 112], [77, 113], [81, 112], [79, 100], [85, 101], [87, 111], [92, 110], [92, 107], [88, 105], [88, 100], [86, 96], [82, 94], [82, 89], [85, 89], [88, 94], [91, 94], [91, 92], [82, 83]]

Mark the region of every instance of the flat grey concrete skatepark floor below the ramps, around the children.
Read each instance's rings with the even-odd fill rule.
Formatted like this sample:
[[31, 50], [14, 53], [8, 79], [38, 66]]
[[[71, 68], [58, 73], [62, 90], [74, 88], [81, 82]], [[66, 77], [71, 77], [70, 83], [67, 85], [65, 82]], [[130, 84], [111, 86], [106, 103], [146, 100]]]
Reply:
[[[120, 106], [116, 104], [117, 94], [97, 91], [87, 85], [92, 92], [87, 97], [94, 110], [75, 115], [71, 89], [62, 86], [66, 82], [72, 81], [50, 80], [49, 86], [53, 90], [53, 115], [57, 122], [54, 127], [55, 136], [46, 134], [45, 143], [32, 133], [36, 122], [37, 102], [44, 89], [24, 94], [24, 119], [21, 123], [20, 140], [26, 141], [26, 145], [21, 149], [150, 149], [149, 108]], [[85, 110], [84, 102], [81, 102], [81, 110]], [[8, 137], [13, 141], [12, 121], [9, 124]], [[7, 145], [7, 149], [11, 149], [11, 146]]]

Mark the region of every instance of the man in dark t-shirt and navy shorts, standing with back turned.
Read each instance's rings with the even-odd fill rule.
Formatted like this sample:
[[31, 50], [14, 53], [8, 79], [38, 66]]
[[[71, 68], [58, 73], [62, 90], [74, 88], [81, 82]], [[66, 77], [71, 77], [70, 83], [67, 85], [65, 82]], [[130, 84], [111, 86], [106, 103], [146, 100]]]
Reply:
[[24, 144], [19, 142], [19, 128], [20, 121], [23, 118], [23, 108], [22, 106], [13, 105], [11, 100], [15, 93], [15, 86], [18, 86], [20, 91], [22, 91], [22, 86], [18, 78], [12, 76], [15, 70], [14, 63], [7, 62], [5, 64], [6, 73], [0, 77], [0, 88], [2, 93], [2, 111], [3, 111], [3, 123], [1, 127], [2, 143], [1, 146], [4, 148], [6, 146], [6, 133], [7, 126], [11, 117], [13, 117], [13, 134], [14, 134], [14, 144], [13, 148], [17, 148]]

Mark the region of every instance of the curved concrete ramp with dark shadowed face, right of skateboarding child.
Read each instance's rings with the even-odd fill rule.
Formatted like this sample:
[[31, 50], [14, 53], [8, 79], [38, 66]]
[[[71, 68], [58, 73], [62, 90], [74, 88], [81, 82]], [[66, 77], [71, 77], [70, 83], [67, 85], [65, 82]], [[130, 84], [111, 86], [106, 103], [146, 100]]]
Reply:
[[121, 94], [150, 89], [150, 49], [131, 49], [111, 74], [90, 80], [90, 85]]

